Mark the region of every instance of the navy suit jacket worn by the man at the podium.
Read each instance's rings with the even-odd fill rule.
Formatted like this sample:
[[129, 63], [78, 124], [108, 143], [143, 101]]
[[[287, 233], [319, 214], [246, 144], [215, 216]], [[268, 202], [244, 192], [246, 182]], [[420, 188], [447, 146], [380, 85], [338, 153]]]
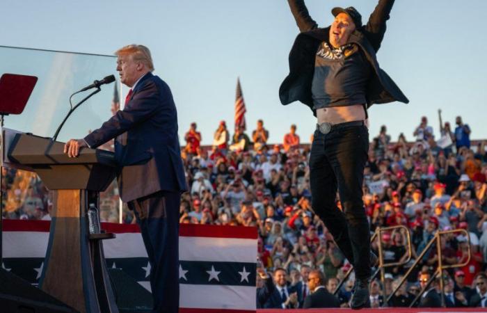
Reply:
[[115, 137], [118, 188], [123, 201], [157, 191], [187, 190], [176, 106], [162, 79], [150, 72], [145, 74], [125, 108], [84, 139], [95, 148]]

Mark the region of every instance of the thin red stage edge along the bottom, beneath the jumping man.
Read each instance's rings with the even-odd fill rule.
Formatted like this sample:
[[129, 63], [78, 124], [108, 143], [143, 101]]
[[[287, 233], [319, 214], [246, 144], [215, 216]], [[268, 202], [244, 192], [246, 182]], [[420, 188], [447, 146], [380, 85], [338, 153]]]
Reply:
[[445, 313], [463, 313], [463, 312], [487, 312], [485, 307], [446, 307], [446, 308], [427, 308], [427, 307], [380, 307], [375, 309], [362, 309], [362, 310], [351, 310], [351, 309], [308, 309], [308, 310], [257, 310], [257, 313], [314, 313], [314, 312], [340, 312], [340, 313], [429, 313], [429, 312], [445, 312]]

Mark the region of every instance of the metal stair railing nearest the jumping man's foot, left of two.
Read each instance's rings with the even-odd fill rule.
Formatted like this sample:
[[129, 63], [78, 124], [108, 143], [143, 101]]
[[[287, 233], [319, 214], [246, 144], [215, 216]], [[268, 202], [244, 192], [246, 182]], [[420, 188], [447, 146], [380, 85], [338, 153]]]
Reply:
[[[397, 230], [397, 229], [403, 229], [406, 233], [406, 239], [407, 239], [407, 251], [406, 253], [408, 254], [408, 257], [406, 259], [404, 259], [403, 261], [399, 261], [399, 262], [392, 262], [392, 263], [385, 263], [384, 262], [384, 256], [383, 256], [383, 246], [382, 246], [382, 241], [381, 241], [381, 234], [383, 232], [389, 232], [390, 230]], [[401, 266], [401, 265], [404, 265], [406, 263], [408, 263], [411, 259], [411, 256], [412, 256], [412, 251], [411, 251], [411, 238], [410, 238], [410, 233], [409, 233], [409, 230], [406, 226], [404, 225], [396, 225], [396, 226], [390, 226], [390, 227], [377, 227], [376, 228], [376, 231], [374, 232], [374, 234], [372, 234], [372, 237], [370, 238], [370, 242], [374, 242], [374, 240], [378, 237], [378, 268], [376, 269], [376, 271], [372, 274], [372, 280], [374, 280], [377, 276], [378, 273], [381, 273], [381, 282], [382, 282], [382, 285], [384, 286], [384, 282], [385, 282], [385, 268], [386, 267], [390, 267], [390, 266]], [[404, 255], [401, 257], [401, 259], [403, 259]], [[351, 268], [349, 269], [349, 271], [347, 271], [344, 275], [344, 278], [342, 279], [341, 282], [339, 282], [337, 284], [337, 287], [335, 289], [335, 291], [333, 291], [333, 294], [337, 294], [337, 292], [340, 290], [340, 288], [342, 287], [342, 285], [344, 284], [344, 282], [346, 282], [346, 280], [349, 278], [350, 274], [352, 273], [353, 271], [353, 266], [351, 266]], [[385, 290], [384, 290], [385, 292]], [[384, 295], [384, 298], [385, 298], [385, 295]]]

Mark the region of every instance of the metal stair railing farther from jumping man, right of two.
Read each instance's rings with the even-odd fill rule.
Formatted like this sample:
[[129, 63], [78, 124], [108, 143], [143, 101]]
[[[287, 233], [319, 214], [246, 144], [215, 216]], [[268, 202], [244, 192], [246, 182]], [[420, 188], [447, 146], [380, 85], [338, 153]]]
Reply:
[[[452, 234], [452, 233], [458, 233], [461, 232], [465, 234], [467, 237], [467, 243], [468, 243], [468, 258], [465, 262], [463, 263], [457, 263], [457, 264], [450, 264], [450, 265], [443, 265], [442, 262], [442, 247], [441, 247], [441, 236], [445, 234]], [[424, 288], [421, 289], [420, 293], [417, 294], [416, 298], [414, 298], [413, 302], [410, 303], [409, 307], [413, 307], [417, 300], [419, 300], [424, 294], [424, 291], [428, 290], [430, 284], [433, 282], [433, 280], [436, 280], [436, 277], [440, 275], [440, 290], [441, 290], [441, 305], [442, 307], [445, 307], [445, 290], [443, 290], [443, 287], [445, 286], [445, 281], [443, 279], [443, 270], [447, 268], [456, 268], [456, 267], [463, 267], [467, 265], [470, 262], [470, 234], [466, 230], [447, 230], [444, 232], [436, 232], [436, 234], [433, 236], [433, 238], [429, 241], [429, 243], [424, 247], [422, 250], [421, 254], [417, 256], [416, 261], [413, 263], [413, 265], [410, 266], [406, 274], [401, 279], [401, 282], [397, 285], [396, 289], [392, 290], [392, 293], [388, 296], [388, 298], [384, 301], [384, 303], [389, 303], [390, 299], [392, 296], [401, 288], [402, 284], [406, 282], [406, 279], [410, 275], [410, 273], [413, 273], [413, 269], [422, 262], [422, 259], [424, 255], [426, 255], [426, 252], [429, 251], [429, 249], [433, 246], [433, 244], [436, 243], [436, 253], [438, 255], [438, 268], [436, 268], [436, 272], [431, 275], [431, 278], [429, 279], [428, 282], [426, 282], [426, 285]]]

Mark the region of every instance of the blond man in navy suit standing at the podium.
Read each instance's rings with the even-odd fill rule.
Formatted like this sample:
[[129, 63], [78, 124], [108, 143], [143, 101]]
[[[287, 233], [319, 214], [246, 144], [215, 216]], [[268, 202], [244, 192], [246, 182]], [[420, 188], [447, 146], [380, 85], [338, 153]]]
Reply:
[[72, 139], [65, 153], [96, 148], [116, 137], [120, 198], [134, 210], [151, 266], [153, 312], [179, 307], [178, 232], [180, 194], [186, 179], [177, 136], [177, 112], [169, 86], [152, 74], [147, 47], [129, 45], [115, 52], [120, 81], [130, 87], [125, 107], [83, 139]]

